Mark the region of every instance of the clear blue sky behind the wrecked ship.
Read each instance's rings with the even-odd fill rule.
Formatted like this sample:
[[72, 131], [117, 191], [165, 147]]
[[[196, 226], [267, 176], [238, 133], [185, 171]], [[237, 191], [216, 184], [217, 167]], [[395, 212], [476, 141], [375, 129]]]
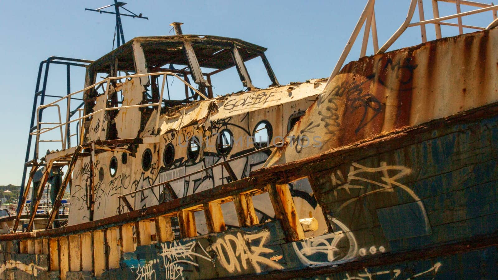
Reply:
[[[17, 184], [21, 178], [39, 62], [50, 55], [94, 60], [111, 51], [114, 15], [84, 11], [84, 8], [112, 2], [2, 1], [0, 185]], [[149, 17], [148, 21], [124, 17], [126, 40], [135, 36], [173, 34], [169, 23], [184, 22], [185, 34], [235, 37], [267, 47], [266, 56], [279, 82], [286, 84], [330, 75], [366, 0], [126, 2], [126, 8]], [[379, 44], [404, 20], [408, 3], [408, 0], [377, 0]], [[426, 17], [432, 15], [430, 1], [425, 1], [425, 11]], [[455, 5], [441, 3], [440, 12], [441, 15], [453, 14]], [[418, 12], [414, 17], [418, 18]], [[491, 20], [491, 12], [487, 12], [483, 16], [464, 18], [464, 24], [486, 26]], [[420, 43], [419, 30], [409, 28], [390, 50]], [[432, 25], [427, 30], [429, 39], [434, 39]], [[455, 27], [443, 28], [445, 36], [457, 32]], [[357, 44], [348, 61], [358, 59], [359, 53]], [[371, 47], [368, 54], [372, 54]], [[49, 81], [48, 90], [60, 90], [62, 92], [53, 93], [64, 95], [65, 76], [63, 72], [57, 75], [57, 71]], [[84, 77], [74, 75], [72, 90], [76, 91], [83, 87]]]

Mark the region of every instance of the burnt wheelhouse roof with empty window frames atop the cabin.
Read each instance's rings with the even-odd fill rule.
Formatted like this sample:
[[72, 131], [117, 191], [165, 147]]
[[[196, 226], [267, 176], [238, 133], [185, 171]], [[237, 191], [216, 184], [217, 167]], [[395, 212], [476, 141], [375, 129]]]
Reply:
[[[264, 55], [266, 48], [251, 44], [249, 42], [220, 36], [210, 35], [172, 35], [136, 37], [116, 50], [106, 54], [102, 58], [90, 64], [87, 70], [87, 83], [95, 82], [96, 73], [109, 73], [114, 77], [118, 72], [135, 72], [137, 74], [157, 73], [168, 71], [183, 76], [189, 81], [191, 75], [198, 85], [199, 91], [213, 98], [211, 76], [232, 67], [237, 72], [244, 87], [249, 90], [257, 89], [252, 85], [249, 72], [244, 62], [256, 57], [261, 57], [268, 77], [270, 86], [279, 85], [273, 70]], [[166, 65], [183, 66], [181, 69], [166, 68]], [[201, 69], [213, 69], [211, 72], [203, 72]], [[157, 102], [159, 95], [157, 83], [154, 79], [149, 81], [151, 98], [150, 102]], [[197, 96], [185, 87], [185, 100], [183, 103], [195, 99]], [[178, 102], [169, 102], [169, 105], [177, 105]], [[181, 104], [181, 103], [180, 103]], [[166, 105], [167, 102], [166, 102]]]

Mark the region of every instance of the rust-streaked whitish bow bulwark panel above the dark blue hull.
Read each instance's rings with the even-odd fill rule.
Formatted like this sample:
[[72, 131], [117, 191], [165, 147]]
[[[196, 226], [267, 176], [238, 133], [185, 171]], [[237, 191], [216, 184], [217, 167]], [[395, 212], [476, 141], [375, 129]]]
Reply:
[[497, 45], [493, 29], [349, 63], [266, 166], [496, 102]]

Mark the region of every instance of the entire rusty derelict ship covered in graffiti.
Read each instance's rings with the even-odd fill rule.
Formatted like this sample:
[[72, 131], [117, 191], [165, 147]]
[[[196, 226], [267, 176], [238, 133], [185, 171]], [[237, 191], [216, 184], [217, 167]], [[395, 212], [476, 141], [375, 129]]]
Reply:
[[[328, 80], [280, 85], [265, 48], [179, 23], [95, 61], [42, 62], [0, 279], [497, 279], [498, 5], [445, 0], [458, 13], [440, 16], [433, 0], [434, 18], [414, 22], [422, 2], [379, 47], [369, 0]], [[489, 26], [463, 25], [479, 12]], [[363, 25], [361, 58], [343, 67]], [[386, 52], [407, 27], [422, 43]], [[85, 67], [84, 89], [44, 103], [51, 63]], [[246, 90], [215, 97], [229, 68]]]

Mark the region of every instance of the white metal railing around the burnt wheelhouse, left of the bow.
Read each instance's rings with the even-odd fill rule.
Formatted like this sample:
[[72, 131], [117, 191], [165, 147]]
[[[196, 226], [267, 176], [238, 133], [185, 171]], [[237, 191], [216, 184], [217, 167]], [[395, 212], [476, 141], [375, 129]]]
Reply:
[[[96, 86], [100, 86], [104, 83], [107, 83], [107, 88], [106, 88], [106, 91], [104, 93], [104, 100], [107, 101], [108, 99], [108, 95], [109, 95], [109, 91], [110, 91], [110, 81], [111, 80], [120, 80], [120, 79], [127, 79], [127, 78], [139, 78], [139, 77], [145, 77], [145, 76], [159, 76], [159, 75], [162, 75], [163, 76], [163, 79], [162, 79], [162, 86], [161, 86], [161, 92], [159, 94], [159, 101], [156, 102], [156, 103], [148, 103], [148, 104], [139, 104], [139, 105], [129, 105], [129, 106], [121, 106], [121, 107], [110, 107], [110, 108], [107, 108], [106, 106], [104, 106], [104, 108], [102, 109], [99, 109], [95, 112], [92, 112], [90, 114], [87, 114], [87, 115], [84, 115], [84, 116], [81, 116], [81, 110], [83, 109], [78, 109], [80, 111], [80, 114], [79, 114], [79, 117], [76, 118], [76, 119], [72, 119], [70, 120], [70, 105], [71, 105], [71, 96], [75, 95], [75, 94], [78, 94], [78, 93], [81, 93], [81, 92], [84, 92], [86, 90], [89, 90], [89, 89], [93, 89], [95, 88]], [[54, 141], [57, 141], [57, 142], [61, 142], [62, 143], [62, 149], [66, 149], [66, 140], [65, 140], [65, 136], [67, 135], [67, 132], [68, 132], [68, 129], [69, 129], [69, 125], [73, 122], [76, 122], [76, 121], [79, 121], [80, 122], [80, 139], [83, 138], [83, 126], [82, 126], [82, 120], [83, 119], [86, 119], [88, 117], [91, 117], [95, 114], [101, 114], [101, 119], [104, 118], [104, 114], [105, 114], [105, 111], [111, 111], [111, 110], [121, 110], [121, 109], [131, 109], [131, 108], [140, 108], [140, 107], [150, 107], [150, 106], [157, 106], [157, 116], [156, 116], [156, 122], [155, 122], [155, 131], [157, 131], [158, 127], [159, 127], [159, 117], [160, 117], [160, 114], [161, 114], [161, 104], [162, 104], [162, 101], [163, 101], [163, 93], [164, 93], [164, 83], [166, 81], [166, 75], [171, 75], [171, 76], [174, 76], [176, 78], [178, 78], [180, 81], [182, 81], [186, 86], [188, 86], [189, 88], [191, 88], [192, 90], [194, 90], [199, 96], [201, 96], [202, 98], [204, 98], [205, 100], [209, 99], [208, 97], [206, 97], [204, 94], [202, 94], [201, 92], [199, 92], [197, 89], [195, 89], [192, 85], [190, 85], [189, 83], [187, 83], [185, 80], [183, 80], [181, 77], [179, 77], [178, 75], [176, 75], [175, 73], [172, 73], [172, 72], [156, 72], [156, 73], [146, 73], [146, 74], [134, 74], [134, 75], [127, 75], [127, 76], [120, 76], [120, 77], [108, 77], [108, 78], [105, 78], [104, 80], [100, 81], [100, 82], [97, 82], [91, 86], [88, 86], [82, 90], [79, 90], [79, 91], [76, 91], [76, 92], [73, 92], [73, 93], [70, 93], [64, 97], [61, 97], [59, 99], [57, 99], [56, 101], [54, 102], [51, 102], [49, 104], [45, 104], [45, 105], [40, 105], [38, 106], [38, 108], [36, 109], [36, 131], [30, 133], [31, 135], [35, 135], [36, 136], [36, 142], [35, 142], [35, 149], [36, 149], [36, 154], [38, 154], [38, 143], [39, 142], [47, 142], [47, 141], [50, 141], [50, 142], [54, 142]], [[59, 103], [63, 100], [66, 100], [66, 106], [67, 106], [67, 110], [66, 110], [66, 121], [64, 123], [62, 123], [62, 119], [61, 119], [61, 114], [60, 114], [60, 107], [58, 104], [56, 103]], [[107, 102], [106, 102], [106, 105], [107, 105]], [[58, 112], [59, 112], [59, 123], [45, 123], [45, 122], [40, 122], [38, 116], [39, 116], [39, 113], [40, 113], [40, 110], [44, 109], [44, 108], [48, 108], [48, 107], [57, 107], [58, 108]], [[56, 124], [56, 126], [54, 127], [50, 127], [50, 128], [40, 128], [40, 125], [47, 125], [47, 124]], [[62, 127], [65, 126], [65, 134], [63, 133], [63, 130], [62, 130]], [[49, 131], [52, 131], [54, 129], [57, 129], [59, 128], [60, 129], [60, 132], [61, 132], [61, 140], [39, 140], [40, 139], [40, 135], [41, 134], [44, 134], [44, 133], [47, 133]], [[81, 142], [81, 141], [80, 141]]]

